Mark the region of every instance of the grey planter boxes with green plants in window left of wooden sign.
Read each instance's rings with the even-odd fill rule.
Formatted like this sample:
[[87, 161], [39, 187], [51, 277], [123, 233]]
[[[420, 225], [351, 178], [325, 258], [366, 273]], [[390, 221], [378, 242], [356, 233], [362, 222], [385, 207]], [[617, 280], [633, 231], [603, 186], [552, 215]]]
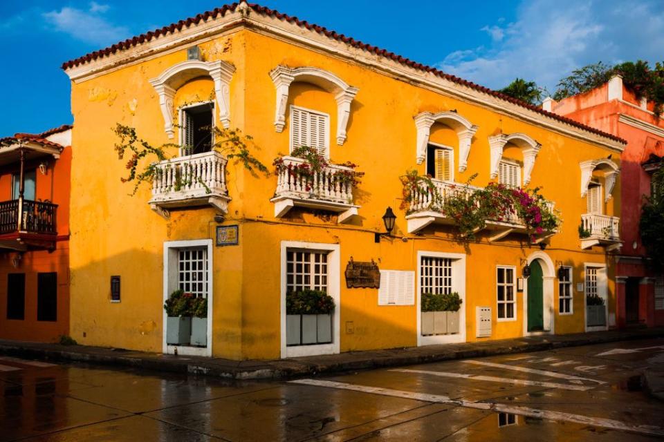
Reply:
[[286, 345], [332, 342], [334, 299], [320, 290], [286, 294]]

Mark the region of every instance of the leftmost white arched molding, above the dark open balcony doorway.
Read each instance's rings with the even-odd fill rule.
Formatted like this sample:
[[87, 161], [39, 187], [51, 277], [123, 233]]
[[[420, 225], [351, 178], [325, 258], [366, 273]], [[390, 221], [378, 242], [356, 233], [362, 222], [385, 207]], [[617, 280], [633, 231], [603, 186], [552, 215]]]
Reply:
[[230, 127], [230, 80], [235, 67], [226, 61], [187, 60], [164, 70], [150, 84], [159, 94], [159, 106], [164, 116], [164, 130], [169, 138], [174, 137], [173, 99], [175, 92], [190, 79], [206, 75], [214, 81], [214, 94], [219, 105], [219, 121], [224, 128]]

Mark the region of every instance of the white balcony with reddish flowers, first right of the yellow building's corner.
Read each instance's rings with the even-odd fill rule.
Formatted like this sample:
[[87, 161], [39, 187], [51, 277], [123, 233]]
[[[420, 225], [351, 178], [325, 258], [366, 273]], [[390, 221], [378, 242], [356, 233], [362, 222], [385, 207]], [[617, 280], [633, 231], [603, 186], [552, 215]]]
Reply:
[[358, 214], [353, 204], [353, 186], [335, 177], [339, 171], [352, 171], [345, 166], [330, 164], [320, 173], [306, 178], [291, 173], [288, 165], [302, 164], [304, 160], [284, 157], [284, 166], [277, 175], [277, 191], [270, 201], [275, 203], [275, 217], [281, 218], [293, 207], [306, 207], [338, 213], [338, 222], [348, 222]]

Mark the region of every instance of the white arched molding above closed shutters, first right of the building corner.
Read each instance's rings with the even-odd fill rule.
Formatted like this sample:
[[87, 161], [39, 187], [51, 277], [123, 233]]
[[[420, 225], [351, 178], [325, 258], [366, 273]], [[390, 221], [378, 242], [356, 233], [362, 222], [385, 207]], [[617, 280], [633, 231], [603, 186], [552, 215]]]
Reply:
[[337, 144], [339, 146], [344, 144], [346, 128], [351, 115], [351, 102], [358, 93], [358, 88], [349, 86], [345, 81], [327, 70], [310, 66], [288, 68], [279, 65], [270, 71], [270, 78], [272, 78], [277, 90], [275, 131], [282, 132], [284, 126], [286, 126], [286, 104], [288, 104], [291, 84], [293, 81], [304, 81], [334, 94], [334, 99], [337, 102]]

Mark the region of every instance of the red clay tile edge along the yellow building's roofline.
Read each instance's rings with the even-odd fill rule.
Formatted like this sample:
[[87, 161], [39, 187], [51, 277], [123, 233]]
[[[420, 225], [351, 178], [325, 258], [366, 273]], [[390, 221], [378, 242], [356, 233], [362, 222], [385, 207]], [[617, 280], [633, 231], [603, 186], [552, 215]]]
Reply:
[[[241, 0], [240, 3], [245, 2], [244, 0]], [[513, 104], [516, 104], [517, 106], [522, 106], [524, 108], [527, 108], [531, 111], [535, 111], [537, 113], [540, 113], [542, 115], [545, 115], [546, 117], [550, 117], [553, 119], [557, 119], [560, 122], [564, 122], [566, 124], [569, 124], [571, 126], [575, 126], [578, 128], [583, 129], [584, 131], [588, 131], [591, 133], [595, 133], [596, 135], [600, 135], [602, 137], [607, 137], [611, 140], [620, 142], [622, 144], [627, 144], [627, 141], [624, 140], [623, 138], [620, 138], [616, 135], [613, 135], [611, 133], [606, 133], [604, 131], [600, 131], [599, 129], [593, 128], [591, 126], [587, 126], [586, 124], [582, 124], [580, 122], [577, 122], [571, 118], [568, 117], [563, 117], [562, 115], [558, 115], [555, 113], [551, 113], [548, 111], [544, 111], [544, 109], [540, 108], [539, 106], [534, 106], [533, 104], [526, 103], [520, 99], [516, 99], [514, 97], [510, 97], [509, 95], [505, 95], [502, 93], [499, 93], [495, 90], [492, 90], [490, 88], [486, 88], [485, 86], [481, 86], [479, 84], [475, 84], [472, 81], [468, 81], [462, 78], [459, 78], [455, 75], [447, 74], [444, 73], [442, 70], [439, 70], [437, 68], [434, 68], [432, 66], [427, 66], [425, 64], [417, 63], [416, 61], [412, 61], [411, 59], [407, 59], [406, 57], [402, 57], [401, 55], [397, 55], [394, 52], [389, 52], [386, 49], [378, 48], [377, 46], [371, 46], [369, 44], [362, 43], [362, 41], [353, 39], [352, 37], [347, 37], [346, 35], [339, 34], [338, 32], [335, 32], [333, 30], [329, 30], [327, 28], [324, 28], [323, 26], [318, 26], [312, 23], [308, 23], [308, 21], [303, 21], [298, 19], [297, 17], [293, 17], [290, 15], [286, 15], [282, 12], [279, 12], [277, 10], [273, 10], [270, 8], [267, 8], [266, 6], [260, 6], [257, 3], [246, 3], [249, 8], [251, 8], [253, 11], [261, 14], [261, 15], [267, 15], [269, 17], [276, 17], [277, 19], [288, 21], [288, 23], [295, 23], [297, 26], [300, 26], [302, 28], [306, 28], [308, 30], [318, 32], [319, 34], [323, 34], [326, 37], [329, 37], [331, 39], [335, 39], [337, 41], [342, 41], [344, 44], [348, 44], [349, 46], [353, 46], [354, 48], [366, 50], [367, 52], [374, 53], [375, 55], [379, 55], [382, 57], [386, 57], [388, 59], [391, 59], [393, 61], [396, 61], [400, 64], [403, 64], [405, 66], [408, 66], [409, 68], [417, 69], [417, 70], [423, 70], [427, 73], [431, 73], [433, 75], [436, 75], [436, 77], [441, 77], [443, 79], [446, 79], [448, 81], [452, 81], [453, 83], [459, 84], [461, 86], [466, 86], [468, 88], [472, 88], [474, 90], [477, 90], [481, 93], [486, 93], [488, 95], [492, 95], [494, 97], [497, 97], [499, 99], [503, 99], [506, 102], [510, 102]], [[214, 10], [211, 11], [206, 11], [203, 12], [203, 14], [196, 15], [196, 17], [190, 17], [185, 20], [180, 20], [177, 23], [171, 23], [169, 26], [164, 26], [163, 28], [156, 29], [154, 31], [146, 32], [145, 34], [138, 35], [137, 37], [133, 37], [131, 39], [126, 39], [124, 41], [120, 41], [117, 44], [114, 44], [112, 46], [109, 46], [108, 48], [104, 48], [101, 50], [96, 50], [94, 52], [90, 52], [89, 54], [86, 54], [82, 57], [78, 57], [77, 59], [73, 59], [70, 61], [65, 61], [62, 64], [62, 69], [67, 70], [68, 68], [72, 68], [73, 66], [78, 66], [80, 64], [84, 64], [87, 61], [95, 60], [98, 58], [102, 58], [104, 56], [108, 56], [111, 54], [114, 54], [118, 52], [118, 50], [125, 50], [133, 46], [138, 46], [138, 44], [142, 44], [145, 41], [150, 41], [153, 38], [158, 38], [161, 35], [166, 35], [169, 33], [172, 33], [175, 31], [177, 28], [178, 30], [181, 30], [183, 27], [191, 26], [192, 24], [198, 24], [201, 20], [207, 20], [208, 18], [216, 18], [219, 14], [221, 14], [221, 17], [225, 15], [226, 12], [234, 12], [234, 10], [239, 6], [239, 3], [231, 3], [230, 5], [225, 5], [222, 6], [221, 8], [215, 8]]]

